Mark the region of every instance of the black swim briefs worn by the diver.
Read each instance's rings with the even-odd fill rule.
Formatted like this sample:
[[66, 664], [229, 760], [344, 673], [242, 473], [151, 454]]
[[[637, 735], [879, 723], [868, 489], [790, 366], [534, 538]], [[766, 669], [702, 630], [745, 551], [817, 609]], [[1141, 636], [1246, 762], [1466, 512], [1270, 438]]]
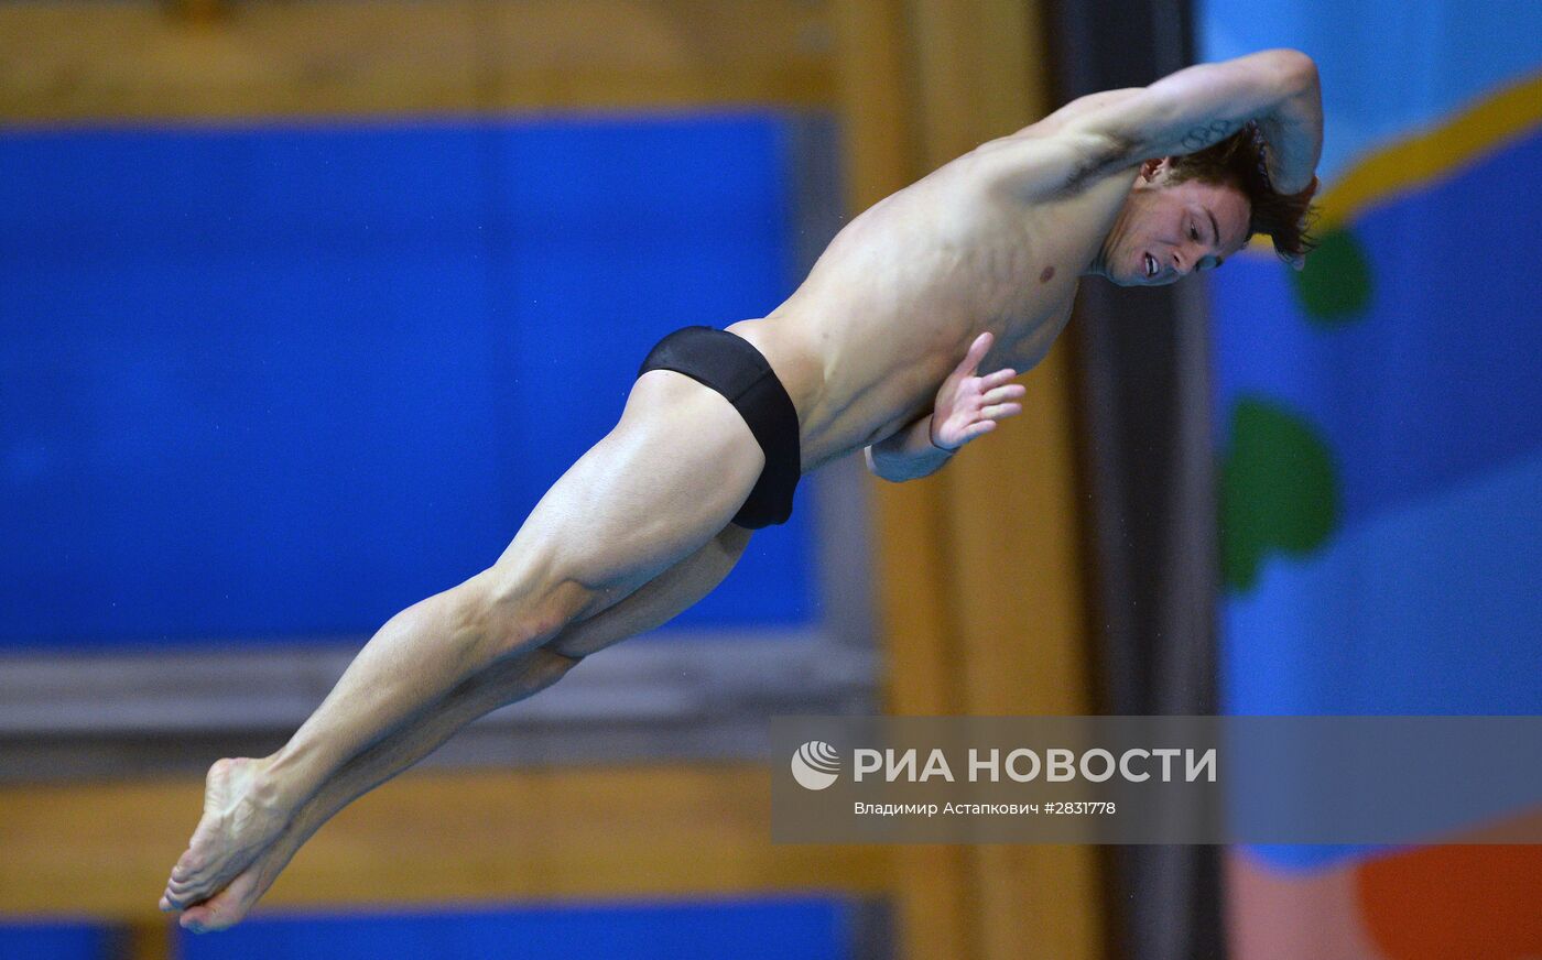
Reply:
[[683, 327], [658, 341], [637, 376], [649, 370], [683, 373], [728, 398], [766, 455], [760, 479], [734, 522], [748, 530], [785, 524], [793, 516], [793, 490], [803, 472], [797, 408], [765, 356], [726, 330]]

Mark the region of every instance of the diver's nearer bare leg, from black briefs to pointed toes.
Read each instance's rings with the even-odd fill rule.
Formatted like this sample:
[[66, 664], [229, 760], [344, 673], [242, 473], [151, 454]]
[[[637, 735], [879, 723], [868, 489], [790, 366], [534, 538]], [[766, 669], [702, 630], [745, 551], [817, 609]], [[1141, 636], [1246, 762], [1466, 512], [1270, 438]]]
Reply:
[[729, 524], [763, 462], [722, 394], [666, 370], [638, 378], [617, 427], [552, 485], [497, 564], [393, 616], [278, 754], [214, 764], [168, 905], [228, 883], [333, 772], [396, 726], [695, 553]]

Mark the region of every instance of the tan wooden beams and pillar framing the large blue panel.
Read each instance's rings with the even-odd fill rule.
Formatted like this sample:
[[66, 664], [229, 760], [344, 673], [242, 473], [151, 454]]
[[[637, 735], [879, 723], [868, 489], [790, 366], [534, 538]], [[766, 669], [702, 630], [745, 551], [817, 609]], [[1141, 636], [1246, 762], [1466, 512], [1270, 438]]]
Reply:
[[[1035, 0], [316, 0], [0, 5], [0, 123], [773, 103], [834, 111], [854, 210], [1047, 103]], [[896, 713], [1086, 713], [1067, 359], [1025, 415], [876, 496]], [[194, 781], [0, 790], [0, 914], [131, 921]], [[897, 905], [910, 960], [1101, 957], [1087, 848], [773, 848], [754, 766], [419, 774], [307, 848], [268, 903], [837, 889]]]

